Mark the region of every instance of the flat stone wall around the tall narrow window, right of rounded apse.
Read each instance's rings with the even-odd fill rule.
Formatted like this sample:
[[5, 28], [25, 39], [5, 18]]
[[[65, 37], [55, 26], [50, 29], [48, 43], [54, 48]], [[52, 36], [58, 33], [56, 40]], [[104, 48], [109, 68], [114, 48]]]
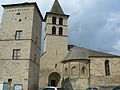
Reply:
[[[105, 74], [105, 61], [109, 60], [110, 75]], [[120, 86], [120, 58], [91, 58], [90, 86]]]

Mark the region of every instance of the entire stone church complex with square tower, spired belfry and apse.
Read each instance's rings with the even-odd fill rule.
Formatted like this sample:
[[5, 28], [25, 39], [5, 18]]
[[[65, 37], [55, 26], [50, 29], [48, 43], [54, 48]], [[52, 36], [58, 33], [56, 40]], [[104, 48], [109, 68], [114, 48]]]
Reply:
[[[120, 86], [120, 56], [68, 45], [68, 18], [58, 0], [43, 18], [36, 3], [2, 5], [0, 85], [10, 90]], [[42, 22], [44, 53], [41, 52]], [[109, 88], [109, 89], [107, 89]]]

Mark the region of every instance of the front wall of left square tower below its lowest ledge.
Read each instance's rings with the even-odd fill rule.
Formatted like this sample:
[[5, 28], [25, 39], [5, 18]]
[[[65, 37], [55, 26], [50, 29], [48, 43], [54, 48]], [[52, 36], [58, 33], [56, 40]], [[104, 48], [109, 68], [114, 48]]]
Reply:
[[22, 84], [28, 90], [29, 60], [0, 60], [0, 82], [11, 81], [11, 90], [15, 84]]

